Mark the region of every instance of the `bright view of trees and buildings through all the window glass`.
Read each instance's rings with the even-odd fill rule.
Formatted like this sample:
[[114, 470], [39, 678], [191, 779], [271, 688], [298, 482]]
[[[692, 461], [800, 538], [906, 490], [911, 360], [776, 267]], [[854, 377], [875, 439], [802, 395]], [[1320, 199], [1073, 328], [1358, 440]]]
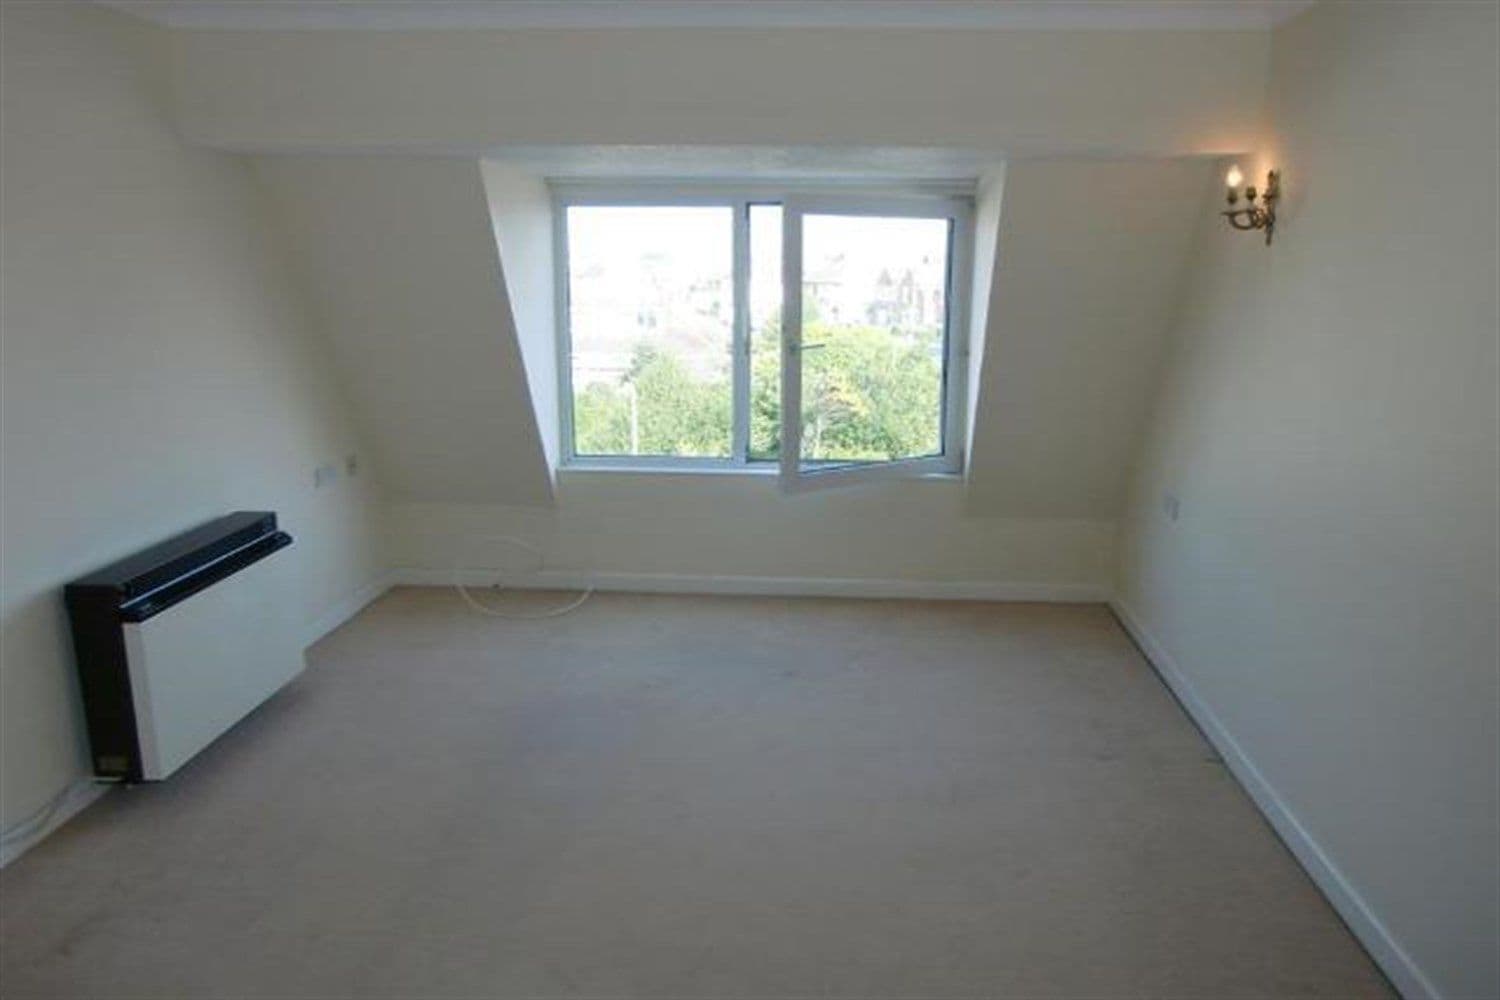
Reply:
[[[572, 205], [574, 453], [728, 459], [734, 219], [722, 205]], [[806, 216], [802, 454], [942, 451], [948, 222]], [[782, 208], [750, 207], [752, 460], [782, 433]]]

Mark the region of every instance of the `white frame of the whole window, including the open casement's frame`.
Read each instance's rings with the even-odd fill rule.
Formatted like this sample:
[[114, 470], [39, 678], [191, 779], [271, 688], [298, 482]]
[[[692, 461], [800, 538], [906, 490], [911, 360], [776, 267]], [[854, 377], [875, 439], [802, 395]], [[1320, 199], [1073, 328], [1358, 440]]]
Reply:
[[[644, 181], [567, 181], [552, 180], [552, 243], [554, 243], [554, 289], [556, 313], [556, 367], [558, 367], [558, 417], [560, 417], [560, 465], [562, 469], [596, 469], [624, 472], [744, 472], [753, 475], [780, 475], [783, 489], [804, 490], [838, 483], [906, 478], [914, 475], [957, 475], [963, 471], [964, 418], [968, 415], [968, 297], [970, 261], [974, 252], [974, 198], [968, 184], [910, 184], [872, 186], [849, 183], [819, 184], [768, 184], [748, 183], [696, 183], [681, 180]], [[858, 193], [850, 193], [850, 190]], [[774, 460], [752, 460], [750, 445], [750, 205], [782, 205], [783, 238], [783, 322], [782, 322], [782, 454]], [[729, 457], [682, 457], [682, 456], [591, 456], [578, 454], [573, 427], [573, 351], [572, 322], [568, 316], [568, 247], [567, 210], [573, 205], [618, 205], [618, 207], [678, 207], [710, 205], [732, 211], [732, 439]], [[816, 471], [798, 469], [792, 460], [788, 472], [788, 426], [796, 423], [786, 418], [788, 397], [788, 319], [795, 298], [796, 325], [801, 327], [801, 288], [790, 294], [786, 283], [789, 271], [788, 235], [790, 232], [790, 205], [816, 205], [816, 214], [825, 214], [825, 207], [842, 205], [846, 211], [860, 208], [860, 214], [948, 217], [952, 220], [948, 253], [948, 327], [946, 357], [944, 366], [944, 454], [918, 459], [874, 462], [861, 465], [838, 465]], [[798, 226], [798, 237], [801, 229]], [[798, 241], [800, 249], [800, 241]], [[798, 430], [800, 441], [800, 430]]]

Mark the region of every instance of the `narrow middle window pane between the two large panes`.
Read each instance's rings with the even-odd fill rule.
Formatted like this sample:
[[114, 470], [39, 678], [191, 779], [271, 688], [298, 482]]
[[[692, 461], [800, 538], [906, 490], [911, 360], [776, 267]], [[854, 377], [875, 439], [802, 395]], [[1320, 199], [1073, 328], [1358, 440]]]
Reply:
[[750, 459], [782, 453], [782, 205], [750, 205]]

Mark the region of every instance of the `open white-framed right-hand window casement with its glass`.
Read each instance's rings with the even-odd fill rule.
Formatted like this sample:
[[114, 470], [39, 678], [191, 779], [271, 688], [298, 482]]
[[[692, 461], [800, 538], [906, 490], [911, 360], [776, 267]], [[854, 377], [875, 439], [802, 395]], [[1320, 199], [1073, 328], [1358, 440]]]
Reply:
[[969, 240], [960, 199], [786, 199], [784, 490], [962, 469]]

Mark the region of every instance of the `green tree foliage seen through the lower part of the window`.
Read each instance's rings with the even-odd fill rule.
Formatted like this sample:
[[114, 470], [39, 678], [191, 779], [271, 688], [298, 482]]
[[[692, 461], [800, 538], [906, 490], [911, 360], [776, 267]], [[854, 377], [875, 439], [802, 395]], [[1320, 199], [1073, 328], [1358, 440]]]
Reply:
[[[804, 457], [858, 462], [940, 451], [939, 331], [814, 319], [802, 340], [822, 345], [802, 355]], [[578, 393], [578, 453], [728, 457], [732, 394], [728, 372], [699, 378], [674, 354], [638, 345], [618, 384], [594, 382]], [[780, 432], [780, 333], [771, 325], [758, 331], [750, 360], [752, 459], [776, 460]]]

